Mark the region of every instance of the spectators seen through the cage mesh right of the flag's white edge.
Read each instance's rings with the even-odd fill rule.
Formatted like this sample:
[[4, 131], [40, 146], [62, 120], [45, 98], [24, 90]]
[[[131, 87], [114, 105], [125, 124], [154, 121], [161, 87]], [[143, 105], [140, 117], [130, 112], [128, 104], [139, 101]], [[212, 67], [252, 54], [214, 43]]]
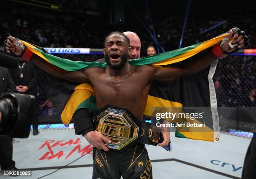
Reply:
[[214, 75], [218, 106], [256, 106], [254, 56], [230, 56], [219, 61]]

